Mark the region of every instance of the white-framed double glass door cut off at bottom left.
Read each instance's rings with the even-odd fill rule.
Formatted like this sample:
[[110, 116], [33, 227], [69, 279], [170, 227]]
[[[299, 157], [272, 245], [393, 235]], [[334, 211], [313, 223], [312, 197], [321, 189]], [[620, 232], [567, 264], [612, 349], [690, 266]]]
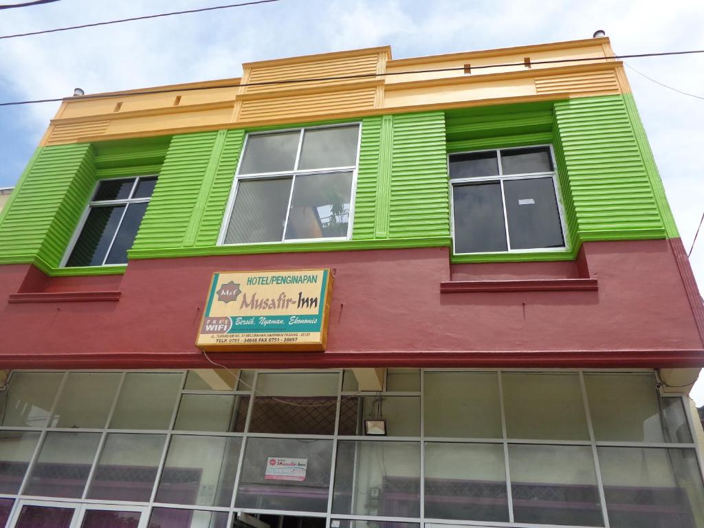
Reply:
[[147, 508], [128, 505], [20, 501], [10, 528], [146, 528]]

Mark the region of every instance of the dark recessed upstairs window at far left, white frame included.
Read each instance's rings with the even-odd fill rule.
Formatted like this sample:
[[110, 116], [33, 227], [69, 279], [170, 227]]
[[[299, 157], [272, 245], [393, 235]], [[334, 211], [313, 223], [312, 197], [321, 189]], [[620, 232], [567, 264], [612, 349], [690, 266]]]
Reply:
[[101, 180], [66, 252], [63, 265], [127, 263], [127, 250], [142, 223], [156, 175]]

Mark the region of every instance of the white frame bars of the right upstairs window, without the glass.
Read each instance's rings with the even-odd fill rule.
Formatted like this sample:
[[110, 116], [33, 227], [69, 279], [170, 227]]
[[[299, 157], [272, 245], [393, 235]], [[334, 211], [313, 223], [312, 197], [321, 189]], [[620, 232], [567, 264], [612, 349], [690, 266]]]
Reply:
[[[520, 149], [536, 149], [540, 147], [548, 147], [550, 149], [550, 158], [553, 163], [553, 170], [548, 172], [524, 172], [521, 174], [503, 175], [503, 168], [501, 166], [501, 151], [507, 150], [520, 150]], [[498, 163], [498, 175], [494, 176], [480, 176], [480, 177], [469, 177], [469, 178], [455, 178], [450, 176], [450, 158], [451, 156], [459, 156], [461, 154], [476, 154], [482, 152], [494, 152], [496, 153], [496, 159]], [[552, 144], [535, 144], [535, 145], [524, 145], [524, 146], [508, 146], [503, 149], [481, 149], [476, 151], [461, 151], [452, 152], [447, 155], [447, 174], [448, 180], [450, 182], [450, 230], [452, 235], [452, 251], [453, 255], [505, 255], [507, 253], [555, 253], [559, 251], [565, 251], [570, 249], [570, 240], [567, 237], [567, 224], [565, 223], [565, 209], [562, 205], [562, 192], [560, 191], [560, 181], [558, 179], [558, 165], [555, 162], [555, 150]], [[558, 215], [560, 216], [560, 229], [562, 230], [562, 240], [564, 244], [557, 248], [529, 248], [529, 249], [511, 249], [511, 239], [508, 232], [508, 215], [506, 213], [506, 197], [503, 191], [503, 182], [507, 180], [529, 180], [531, 178], [545, 178], [551, 177], [553, 180], [553, 188], [555, 189], [555, 200], [558, 204]], [[501, 185], [501, 203], [503, 205], [503, 227], [506, 233], [506, 246], [508, 249], [505, 251], [474, 251], [472, 253], [458, 253], [455, 251], [455, 185], [472, 184], [477, 182], [498, 182]]]

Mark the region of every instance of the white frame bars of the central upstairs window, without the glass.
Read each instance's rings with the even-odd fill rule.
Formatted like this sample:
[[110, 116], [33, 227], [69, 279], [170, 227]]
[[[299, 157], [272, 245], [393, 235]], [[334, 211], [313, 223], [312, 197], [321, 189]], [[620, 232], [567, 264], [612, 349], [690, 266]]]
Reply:
[[[319, 169], [306, 169], [298, 170], [298, 162], [301, 158], [301, 149], [303, 148], [303, 136], [306, 130], [323, 130], [328, 128], [339, 128], [339, 127], [349, 127], [352, 125], [358, 126], [358, 137], [357, 137], [357, 152], [355, 156], [355, 165], [347, 165], [344, 167], [325, 167]], [[242, 160], [244, 159], [244, 154], [246, 153], [247, 143], [251, 136], [259, 136], [265, 134], [278, 134], [281, 132], [300, 132], [298, 137], [298, 147], [296, 149], [296, 158], [294, 161], [294, 170], [281, 170], [277, 172], [256, 172], [254, 174], [242, 175], [239, 173]], [[242, 144], [242, 149], [239, 153], [239, 161], [237, 161], [237, 169], [234, 172], [234, 180], [232, 182], [232, 189], [230, 189], [230, 198], [227, 199], [227, 206], [225, 207], [225, 216], [222, 218], [222, 225], [220, 226], [220, 234], [218, 235], [218, 246], [251, 246], [251, 245], [272, 245], [272, 244], [298, 244], [301, 242], [330, 242], [330, 241], [344, 241], [350, 240], [352, 238], [352, 230], [354, 225], [354, 209], [356, 203], [357, 194], [357, 176], [359, 170], [359, 156], [362, 143], [362, 122], [361, 121], [351, 121], [336, 123], [334, 125], [320, 125], [315, 127], [295, 127], [295, 128], [282, 128], [277, 130], [265, 130], [261, 132], [248, 132], [244, 138]], [[310, 174], [331, 174], [333, 172], [352, 172], [352, 188], [350, 194], [350, 208], [349, 208], [349, 220], [347, 223], [347, 234], [345, 237], [321, 237], [313, 239], [286, 239], [286, 230], [289, 224], [289, 213], [291, 212], [291, 199], [294, 195], [294, 185], [296, 184], [296, 176], [305, 176]], [[275, 180], [290, 177], [291, 178], [291, 189], [289, 190], [289, 202], [287, 204], [286, 216], [284, 218], [284, 230], [282, 232], [282, 239], [277, 241], [265, 241], [265, 242], [243, 242], [239, 244], [225, 244], [225, 237], [227, 236], [227, 230], [230, 228], [230, 220], [232, 219], [232, 211], [234, 209], [234, 202], [237, 199], [237, 190], [239, 189], [239, 182], [246, 180]]]

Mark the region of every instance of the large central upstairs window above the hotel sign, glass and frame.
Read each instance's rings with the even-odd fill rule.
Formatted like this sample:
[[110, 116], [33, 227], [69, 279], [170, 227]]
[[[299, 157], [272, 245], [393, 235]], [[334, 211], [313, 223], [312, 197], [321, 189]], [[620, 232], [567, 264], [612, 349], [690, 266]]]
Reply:
[[348, 239], [360, 126], [249, 134], [220, 244]]

